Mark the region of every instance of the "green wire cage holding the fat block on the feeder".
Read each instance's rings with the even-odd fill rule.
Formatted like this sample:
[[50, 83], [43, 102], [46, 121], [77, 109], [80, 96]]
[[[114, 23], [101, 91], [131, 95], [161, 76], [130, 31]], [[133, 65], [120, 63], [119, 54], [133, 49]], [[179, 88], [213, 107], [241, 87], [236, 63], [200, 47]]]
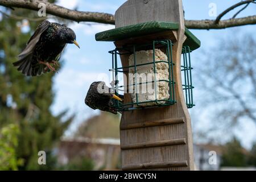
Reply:
[[[175, 80], [174, 80], [174, 61], [172, 60], [172, 42], [171, 40], [154, 40], [151, 43], [147, 44], [136, 44], [131, 46], [123, 46], [122, 48], [115, 48], [112, 51], [109, 51], [109, 53], [112, 55], [112, 69], [109, 69], [113, 74], [113, 81], [112, 83], [112, 89], [115, 89], [115, 94], [119, 94], [119, 91], [121, 89], [124, 89], [127, 91], [127, 88], [130, 86], [133, 86], [135, 89], [135, 101], [131, 100], [130, 102], [120, 102], [115, 101], [113, 107], [115, 107], [118, 111], [124, 111], [124, 110], [133, 110], [133, 109], [143, 109], [145, 107], [157, 107], [157, 106], [168, 106], [168, 105], [174, 105], [176, 103], [175, 101]], [[167, 60], [155, 60], [155, 50], [156, 48], [162, 49], [167, 56]], [[152, 49], [152, 61], [143, 63], [143, 64], [137, 64], [137, 51], [141, 50], [148, 50]], [[191, 67], [191, 56], [190, 56], [191, 49], [189, 46], [184, 46], [182, 49], [182, 55], [183, 55], [183, 61], [181, 61], [181, 73], [182, 74], [182, 80], [183, 80], [183, 90], [184, 90], [184, 96], [185, 101], [188, 108], [191, 108], [195, 106], [193, 104], [193, 86], [192, 86], [192, 75], [191, 70], [193, 69]], [[128, 65], [127, 67], [118, 67], [118, 57], [120, 55], [133, 55], [133, 65]], [[168, 64], [168, 79], [160, 79], [156, 80], [156, 76], [154, 76], [154, 80], [152, 81], [146, 81], [146, 82], [138, 82], [136, 75], [137, 75], [137, 68], [143, 67], [144, 65], [152, 65], [152, 68], [154, 70], [154, 74], [156, 74], [156, 64], [158, 63], [166, 63]], [[127, 84], [127, 85], [119, 85], [118, 80], [118, 73], [125, 73], [129, 71], [130, 68], [134, 69], [135, 74], [135, 83], [134, 84]], [[158, 93], [158, 90], [156, 90], [157, 82], [167, 82], [168, 83], [168, 99], [158, 99], [156, 96], [156, 93]], [[137, 86], [143, 85], [143, 84], [154, 84], [154, 94], [155, 99], [154, 100], [148, 100], [148, 101], [139, 101], [138, 99], [138, 93], [137, 93]], [[143, 104], [151, 103], [154, 104], [153, 106], [143, 106]]]

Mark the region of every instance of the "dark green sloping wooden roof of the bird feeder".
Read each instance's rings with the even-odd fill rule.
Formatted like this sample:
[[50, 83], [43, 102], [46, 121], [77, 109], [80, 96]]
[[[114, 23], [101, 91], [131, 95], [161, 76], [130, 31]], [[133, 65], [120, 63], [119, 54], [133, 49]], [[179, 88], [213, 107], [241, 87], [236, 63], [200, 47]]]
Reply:
[[[146, 22], [138, 23], [130, 26], [114, 28], [111, 30], [99, 32], [95, 35], [97, 41], [112, 41], [127, 39], [135, 36], [153, 34], [157, 32], [163, 32], [167, 30], [178, 30], [179, 24], [172, 22]], [[201, 42], [192, 34], [188, 28], [185, 28], [185, 35], [187, 39], [185, 40], [183, 46], [189, 46], [191, 51], [200, 47]]]

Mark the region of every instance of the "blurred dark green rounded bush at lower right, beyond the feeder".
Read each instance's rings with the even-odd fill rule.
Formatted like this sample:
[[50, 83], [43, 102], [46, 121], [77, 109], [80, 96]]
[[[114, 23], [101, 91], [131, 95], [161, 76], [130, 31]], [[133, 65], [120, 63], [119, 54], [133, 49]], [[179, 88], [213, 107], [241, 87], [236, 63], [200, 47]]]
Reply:
[[247, 166], [247, 154], [237, 138], [233, 138], [224, 146], [221, 166]]

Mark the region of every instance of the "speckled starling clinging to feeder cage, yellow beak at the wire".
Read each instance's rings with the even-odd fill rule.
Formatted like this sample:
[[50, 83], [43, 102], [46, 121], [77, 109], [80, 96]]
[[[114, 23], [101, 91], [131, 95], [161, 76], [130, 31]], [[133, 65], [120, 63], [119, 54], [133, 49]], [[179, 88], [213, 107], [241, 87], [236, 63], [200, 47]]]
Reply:
[[110, 88], [103, 81], [96, 81], [90, 85], [85, 97], [85, 104], [92, 109], [100, 109], [117, 114], [113, 107], [114, 100], [122, 101], [122, 98], [110, 93]]

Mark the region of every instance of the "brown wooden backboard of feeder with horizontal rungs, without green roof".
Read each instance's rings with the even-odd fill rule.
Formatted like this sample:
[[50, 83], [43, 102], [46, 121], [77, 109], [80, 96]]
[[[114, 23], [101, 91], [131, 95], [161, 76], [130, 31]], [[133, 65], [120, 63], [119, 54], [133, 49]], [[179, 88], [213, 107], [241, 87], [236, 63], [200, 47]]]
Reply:
[[[115, 12], [115, 28], [151, 21], [174, 22], [177, 31], [155, 35], [176, 35], [172, 47], [177, 103], [172, 106], [124, 111], [121, 118], [122, 169], [193, 170], [191, 119], [181, 84], [180, 59], [184, 35], [181, 0], [129, 0]], [[152, 37], [152, 35], [151, 35]], [[123, 40], [115, 42], [118, 47]], [[123, 67], [127, 57], [121, 56]]]

